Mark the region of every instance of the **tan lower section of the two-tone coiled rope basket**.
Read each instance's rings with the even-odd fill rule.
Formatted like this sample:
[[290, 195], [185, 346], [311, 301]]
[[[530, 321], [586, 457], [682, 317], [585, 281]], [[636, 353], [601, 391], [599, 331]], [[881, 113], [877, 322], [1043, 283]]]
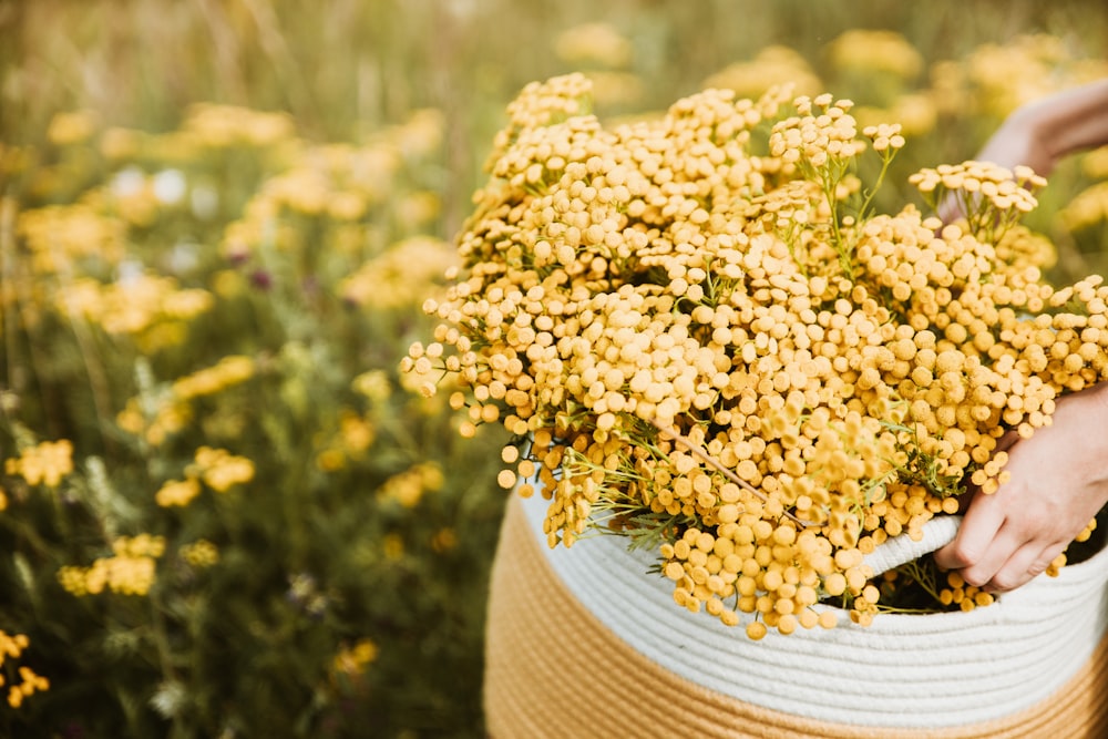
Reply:
[[629, 647], [571, 595], [541, 546], [513, 499], [489, 602], [484, 707], [494, 739], [1079, 739], [1108, 726], [1108, 640], [1050, 698], [966, 727], [851, 727], [751, 706]]

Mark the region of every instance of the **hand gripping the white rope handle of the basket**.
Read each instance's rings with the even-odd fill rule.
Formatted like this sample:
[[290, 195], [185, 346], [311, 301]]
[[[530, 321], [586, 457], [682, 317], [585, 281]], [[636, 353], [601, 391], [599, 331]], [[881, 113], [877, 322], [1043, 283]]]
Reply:
[[[1063, 397], [1054, 422], [1007, 448], [1010, 473], [977, 493], [935, 562], [1004, 592], [1043, 573], [1108, 502], [1108, 383]], [[1002, 444], [1003, 448], [1003, 444]]]

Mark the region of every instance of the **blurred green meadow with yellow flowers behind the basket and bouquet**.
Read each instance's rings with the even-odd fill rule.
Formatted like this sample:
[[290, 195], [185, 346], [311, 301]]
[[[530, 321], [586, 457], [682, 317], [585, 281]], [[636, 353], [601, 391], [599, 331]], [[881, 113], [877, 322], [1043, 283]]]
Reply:
[[[851, 97], [899, 209], [1108, 75], [1108, 7], [0, 0], [0, 736], [483, 736], [503, 432], [397, 366], [504, 106], [571, 71], [608, 120]], [[1029, 216], [1059, 281], [1106, 191], [1073, 157]]]

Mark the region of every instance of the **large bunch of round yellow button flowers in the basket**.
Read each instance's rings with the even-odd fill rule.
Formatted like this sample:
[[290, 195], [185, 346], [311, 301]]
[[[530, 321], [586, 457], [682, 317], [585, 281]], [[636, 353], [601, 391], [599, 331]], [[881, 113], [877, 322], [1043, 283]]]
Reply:
[[611, 127], [588, 101], [568, 75], [510, 105], [403, 369], [450, 381], [463, 435], [512, 434], [500, 482], [550, 500], [551, 546], [649, 547], [678, 606], [751, 638], [832, 626], [818, 604], [863, 625], [987, 605], [864, 558], [995, 491], [997, 440], [1108, 377], [1108, 286], [1053, 288], [1018, 223], [1044, 179], [940, 166], [911, 181], [965, 218], [878, 214], [904, 138], [859, 131], [850, 101], [707, 90]]

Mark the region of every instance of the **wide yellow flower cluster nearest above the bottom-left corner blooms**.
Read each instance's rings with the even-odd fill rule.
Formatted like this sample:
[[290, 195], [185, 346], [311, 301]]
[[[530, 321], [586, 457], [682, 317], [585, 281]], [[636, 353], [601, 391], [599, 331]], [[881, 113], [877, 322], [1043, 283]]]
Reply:
[[107, 588], [123, 595], [146, 595], [155, 579], [157, 558], [165, 538], [140, 534], [112, 542], [113, 556], [100, 557], [89, 567], [62, 567], [58, 582], [76, 596], [98, 595]]

